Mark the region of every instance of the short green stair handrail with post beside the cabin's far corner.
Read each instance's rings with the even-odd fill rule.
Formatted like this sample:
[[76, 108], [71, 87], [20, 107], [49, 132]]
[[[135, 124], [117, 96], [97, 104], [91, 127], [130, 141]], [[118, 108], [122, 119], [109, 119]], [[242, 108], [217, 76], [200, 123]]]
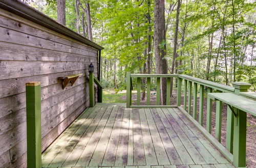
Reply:
[[98, 86], [98, 102], [102, 103], [103, 86], [93, 73], [89, 73], [90, 107], [94, 107], [94, 83]]

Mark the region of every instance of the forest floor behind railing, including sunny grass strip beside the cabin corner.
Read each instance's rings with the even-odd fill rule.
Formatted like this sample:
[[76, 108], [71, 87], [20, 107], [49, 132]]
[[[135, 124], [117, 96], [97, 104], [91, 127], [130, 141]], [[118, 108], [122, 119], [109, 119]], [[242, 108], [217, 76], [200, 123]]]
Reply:
[[[152, 92], [154, 94], [155, 92]], [[192, 107], [193, 109], [193, 97]], [[136, 105], [137, 95], [136, 91], [132, 92], [132, 103]], [[204, 117], [203, 127], [206, 128], [206, 98], [204, 98]], [[114, 90], [103, 91], [103, 102], [105, 103], [125, 103], [126, 102], [126, 91], [115, 93]], [[156, 95], [151, 95], [151, 105], [156, 103]], [[171, 97], [170, 104], [176, 104], [176, 93], [174, 91], [173, 97]], [[181, 106], [183, 106], [183, 97], [181, 97]], [[146, 105], [146, 100], [141, 100], [141, 105]], [[197, 109], [199, 109], [199, 98], [197, 100]], [[198, 114], [197, 114], [198, 115]], [[215, 117], [216, 117], [216, 104], [212, 102], [212, 119], [211, 119], [211, 134], [215, 136]], [[222, 131], [221, 131], [221, 144], [225, 146], [226, 143], [226, 119], [227, 119], [227, 105], [223, 104], [222, 113]], [[198, 120], [198, 116], [197, 116]], [[246, 132], [246, 166], [256, 167], [256, 117], [247, 114], [247, 132]]]

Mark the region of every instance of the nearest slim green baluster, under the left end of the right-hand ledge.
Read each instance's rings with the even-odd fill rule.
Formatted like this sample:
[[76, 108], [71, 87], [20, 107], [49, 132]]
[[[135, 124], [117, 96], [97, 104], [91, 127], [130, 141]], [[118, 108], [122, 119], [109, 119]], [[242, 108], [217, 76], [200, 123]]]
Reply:
[[216, 101], [215, 137], [221, 142], [222, 101]]

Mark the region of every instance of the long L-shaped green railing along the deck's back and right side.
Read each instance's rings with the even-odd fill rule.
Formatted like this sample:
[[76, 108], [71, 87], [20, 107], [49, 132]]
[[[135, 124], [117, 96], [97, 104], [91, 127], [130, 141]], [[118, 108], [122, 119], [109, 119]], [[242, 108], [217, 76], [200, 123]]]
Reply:
[[[132, 77], [137, 78], [137, 105], [132, 105]], [[140, 79], [146, 78], [146, 102], [147, 105], [140, 105]], [[151, 78], [156, 77], [157, 80], [157, 105], [150, 105], [150, 89]], [[167, 77], [167, 103], [166, 105], [160, 105], [160, 78]], [[169, 88], [170, 78], [177, 77], [177, 104], [169, 105]], [[245, 82], [233, 82], [233, 87], [222, 85], [220, 83], [199, 79], [196, 77], [182, 74], [131, 74], [127, 72], [127, 107], [178, 107], [196, 126], [201, 132], [209, 139], [209, 141], [217, 147], [225, 157], [237, 167], [245, 167], [245, 149], [246, 149], [246, 113], [256, 116], [256, 107], [251, 104], [256, 104], [256, 93], [247, 92], [250, 88], [249, 83]], [[197, 108], [198, 99], [198, 87], [199, 87], [199, 109]], [[204, 95], [216, 94], [229, 94], [226, 97], [236, 97], [237, 104], [239, 102], [248, 103], [249, 109], [242, 107], [242, 104], [235, 106], [233, 100], [219, 100], [218, 97], [212, 98], [207, 96], [207, 108], [206, 108], [206, 129], [203, 127], [204, 117]], [[181, 98], [183, 93], [183, 107], [181, 107]], [[225, 97], [225, 96], [224, 96]], [[248, 99], [250, 98], [250, 99]], [[193, 105], [192, 105], [193, 100]], [[212, 120], [212, 101], [216, 101], [216, 125], [215, 125], [215, 137], [211, 135], [211, 120]], [[226, 147], [221, 142], [221, 130], [222, 130], [222, 104], [227, 104], [227, 125], [226, 125]], [[193, 107], [193, 108], [191, 108]], [[198, 116], [198, 118], [197, 118]]]

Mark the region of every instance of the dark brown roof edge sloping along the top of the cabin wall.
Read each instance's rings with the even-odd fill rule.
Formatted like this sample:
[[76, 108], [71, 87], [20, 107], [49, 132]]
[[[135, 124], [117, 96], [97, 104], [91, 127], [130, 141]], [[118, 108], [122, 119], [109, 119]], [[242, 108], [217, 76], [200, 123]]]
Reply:
[[84, 38], [83, 36], [77, 34], [76, 32], [72, 31], [68, 27], [58, 23], [57, 21], [53, 20], [52, 18], [48, 17], [47, 15], [35, 10], [34, 8], [30, 7], [29, 5], [17, 1], [17, 0], [0, 0], [0, 8], [14, 13], [18, 16], [24, 17], [28, 20], [31, 20], [37, 24], [47, 27], [55, 32], [58, 32], [62, 35], [68, 36], [72, 39], [75, 39], [79, 42], [88, 44], [98, 49], [103, 49], [102, 46]]

